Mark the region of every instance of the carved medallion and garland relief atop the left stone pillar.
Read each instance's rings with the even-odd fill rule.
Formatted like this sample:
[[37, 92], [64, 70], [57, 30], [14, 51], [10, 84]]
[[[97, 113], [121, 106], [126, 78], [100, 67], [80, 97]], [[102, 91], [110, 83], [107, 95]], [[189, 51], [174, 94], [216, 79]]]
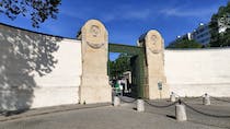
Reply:
[[[101, 36], [101, 30], [100, 30], [100, 27], [99, 26], [96, 26], [96, 25], [92, 25], [91, 27], [90, 27], [90, 35], [91, 35], [91, 38], [100, 38], [100, 36]], [[94, 40], [93, 39], [93, 40]], [[87, 42], [87, 44], [91, 47], [91, 48], [94, 48], [94, 49], [99, 49], [99, 48], [101, 48], [103, 45], [104, 45], [104, 43], [97, 43], [97, 42], [95, 42], [95, 43], [90, 43], [90, 42]]]

